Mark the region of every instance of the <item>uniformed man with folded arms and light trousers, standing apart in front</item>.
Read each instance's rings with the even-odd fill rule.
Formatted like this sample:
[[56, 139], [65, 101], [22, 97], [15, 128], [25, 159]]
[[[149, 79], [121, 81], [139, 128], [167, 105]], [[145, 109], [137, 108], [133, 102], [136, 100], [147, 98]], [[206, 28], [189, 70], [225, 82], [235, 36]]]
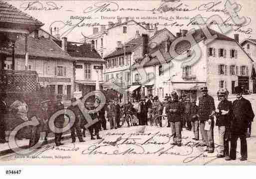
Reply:
[[172, 145], [181, 146], [181, 115], [184, 112], [183, 105], [179, 102], [176, 92], [172, 92], [172, 103], [166, 106], [165, 112], [170, 119], [170, 125], [173, 135]]

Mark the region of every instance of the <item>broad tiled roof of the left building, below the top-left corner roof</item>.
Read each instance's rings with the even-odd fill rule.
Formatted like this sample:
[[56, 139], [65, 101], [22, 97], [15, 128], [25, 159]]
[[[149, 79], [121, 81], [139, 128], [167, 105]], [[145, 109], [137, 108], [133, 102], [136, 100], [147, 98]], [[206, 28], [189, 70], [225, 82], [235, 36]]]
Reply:
[[[51, 39], [27, 37], [27, 51], [29, 56], [41, 58], [57, 58], [73, 60], [73, 58]], [[25, 55], [25, 38], [21, 37], [15, 42], [15, 55]]]

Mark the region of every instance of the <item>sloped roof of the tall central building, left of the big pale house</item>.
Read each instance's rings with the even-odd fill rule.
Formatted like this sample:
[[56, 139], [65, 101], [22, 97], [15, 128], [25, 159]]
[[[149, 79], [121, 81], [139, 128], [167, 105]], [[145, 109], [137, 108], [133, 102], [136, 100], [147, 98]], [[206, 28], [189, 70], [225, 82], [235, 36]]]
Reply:
[[[142, 36], [131, 39], [126, 43], [125, 53], [132, 53], [132, 51], [135, 48], [137, 48], [138, 45], [140, 44], [142, 44]], [[122, 47], [121, 49], [114, 50], [113, 52], [108, 54], [105, 58], [114, 57], [114, 56], [123, 55], [123, 54], [124, 54], [124, 47]]]

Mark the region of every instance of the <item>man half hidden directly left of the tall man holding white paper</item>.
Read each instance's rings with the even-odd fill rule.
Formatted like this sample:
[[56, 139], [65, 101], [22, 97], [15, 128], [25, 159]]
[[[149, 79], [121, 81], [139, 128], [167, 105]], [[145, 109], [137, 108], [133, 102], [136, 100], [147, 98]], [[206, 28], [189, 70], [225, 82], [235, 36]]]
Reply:
[[194, 133], [193, 140], [199, 140], [199, 121], [198, 121], [198, 106], [196, 100], [192, 101], [191, 105], [191, 126]]

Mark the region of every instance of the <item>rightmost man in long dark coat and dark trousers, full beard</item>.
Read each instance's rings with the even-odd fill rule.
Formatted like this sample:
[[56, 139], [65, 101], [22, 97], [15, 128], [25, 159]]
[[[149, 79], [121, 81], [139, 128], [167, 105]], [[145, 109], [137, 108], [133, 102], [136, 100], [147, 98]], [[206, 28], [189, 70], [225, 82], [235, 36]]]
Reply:
[[241, 141], [241, 161], [247, 160], [247, 129], [248, 124], [253, 121], [255, 115], [251, 102], [243, 98], [243, 90], [240, 86], [235, 87], [237, 99], [232, 104], [233, 119], [231, 122], [231, 150], [227, 161], [237, 158], [237, 140]]

